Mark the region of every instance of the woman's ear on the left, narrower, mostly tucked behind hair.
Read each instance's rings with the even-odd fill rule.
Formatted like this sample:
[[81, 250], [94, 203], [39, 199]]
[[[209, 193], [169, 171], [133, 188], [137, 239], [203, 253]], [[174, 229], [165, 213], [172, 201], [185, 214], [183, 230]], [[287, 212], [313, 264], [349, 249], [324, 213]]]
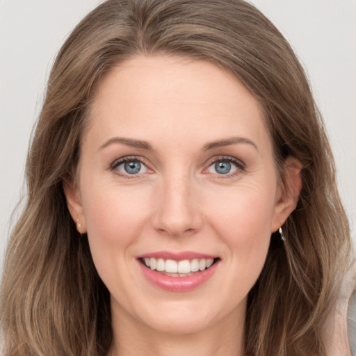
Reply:
[[63, 191], [67, 200], [67, 207], [70, 215], [76, 224], [76, 229], [80, 234], [86, 233], [86, 218], [84, 216], [83, 206], [81, 204], [81, 195], [78, 184], [75, 179], [66, 179], [63, 181]]

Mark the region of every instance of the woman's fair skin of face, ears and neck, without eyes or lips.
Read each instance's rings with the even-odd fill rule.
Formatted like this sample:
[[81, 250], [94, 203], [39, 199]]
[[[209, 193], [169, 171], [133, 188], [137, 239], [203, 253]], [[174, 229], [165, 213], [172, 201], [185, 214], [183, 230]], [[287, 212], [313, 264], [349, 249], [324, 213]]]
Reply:
[[[121, 63], [102, 80], [88, 120], [79, 176], [65, 194], [111, 293], [111, 354], [243, 355], [246, 298], [270, 234], [296, 207], [300, 165], [289, 159], [281, 186], [259, 103], [202, 61]], [[232, 137], [238, 142], [207, 147]], [[115, 138], [145, 140], [152, 149]], [[137, 175], [115, 165], [124, 156], [144, 163]], [[215, 163], [226, 158], [236, 163], [218, 174]], [[193, 291], [163, 291], [136, 258], [161, 250], [220, 262]]]

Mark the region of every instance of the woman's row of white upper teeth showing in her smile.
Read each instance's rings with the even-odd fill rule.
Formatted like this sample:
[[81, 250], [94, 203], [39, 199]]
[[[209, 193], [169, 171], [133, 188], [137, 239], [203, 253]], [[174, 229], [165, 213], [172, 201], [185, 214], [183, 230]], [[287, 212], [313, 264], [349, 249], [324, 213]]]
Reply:
[[184, 259], [183, 261], [175, 261], [174, 259], [155, 259], [144, 258], [145, 265], [152, 270], [158, 270], [159, 272], [167, 273], [182, 273], [187, 274], [191, 272], [197, 272], [198, 270], [205, 270], [211, 267], [214, 259]]

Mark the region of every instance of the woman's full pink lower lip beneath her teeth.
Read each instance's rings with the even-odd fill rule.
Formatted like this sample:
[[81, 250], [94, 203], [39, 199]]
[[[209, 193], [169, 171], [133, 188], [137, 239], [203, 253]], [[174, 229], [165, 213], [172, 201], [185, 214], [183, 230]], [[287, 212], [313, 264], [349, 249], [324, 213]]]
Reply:
[[138, 261], [138, 263], [140, 264], [140, 268], [149, 282], [154, 284], [154, 286], [165, 289], [165, 291], [174, 292], [192, 291], [204, 282], [207, 282], [207, 280], [209, 280], [209, 278], [216, 271], [216, 267], [218, 265], [218, 261], [216, 261], [211, 267], [201, 270], [194, 275], [189, 275], [187, 277], [171, 277], [163, 275], [157, 270], [151, 270], [140, 261]]

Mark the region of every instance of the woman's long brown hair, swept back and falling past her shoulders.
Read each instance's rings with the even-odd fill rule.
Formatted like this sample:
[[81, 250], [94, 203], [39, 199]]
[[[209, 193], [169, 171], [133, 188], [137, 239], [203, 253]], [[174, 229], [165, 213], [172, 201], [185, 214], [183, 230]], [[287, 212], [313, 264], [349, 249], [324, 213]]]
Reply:
[[[97, 83], [132, 56], [186, 56], [225, 68], [264, 111], [278, 169], [302, 163], [302, 191], [273, 234], [248, 296], [245, 353], [325, 355], [349, 247], [346, 214], [323, 122], [295, 54], [259, 10], [240, 0], [108, 0], [72, 31], [54, 63], [26, 163], [26, 207], [1, 285], [6, 356], [100, 356], [112, 342], [110, 299], [76, 232], [63, 181], [76, 174]], [[276, 236], [274, 236], [276, 235]]]

